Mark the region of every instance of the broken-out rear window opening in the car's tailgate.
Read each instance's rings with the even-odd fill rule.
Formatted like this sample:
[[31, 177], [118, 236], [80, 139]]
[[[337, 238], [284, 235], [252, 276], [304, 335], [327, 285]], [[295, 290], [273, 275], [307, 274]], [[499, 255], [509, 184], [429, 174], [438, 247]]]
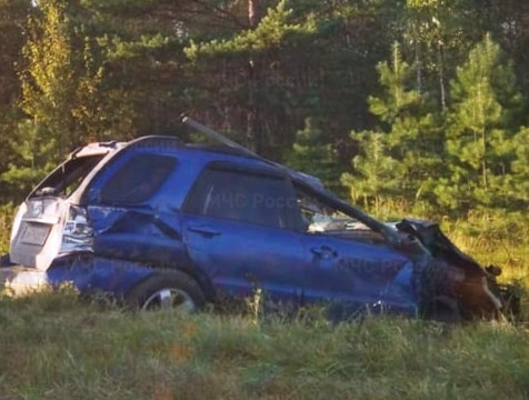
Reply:
[[30, 197], [68, 198], [98, 164], [104, 154], [70, 159], [51, 172]]

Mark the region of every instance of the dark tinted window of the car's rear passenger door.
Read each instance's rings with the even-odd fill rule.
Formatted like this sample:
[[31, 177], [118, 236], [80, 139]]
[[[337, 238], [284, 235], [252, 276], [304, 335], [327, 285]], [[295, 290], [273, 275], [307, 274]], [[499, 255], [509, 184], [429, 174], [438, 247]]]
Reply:
[[189, 194], [190, 213], [272, 228], [295, 227], [297, 200], [280, 176], [229, 169], [206, 169]]

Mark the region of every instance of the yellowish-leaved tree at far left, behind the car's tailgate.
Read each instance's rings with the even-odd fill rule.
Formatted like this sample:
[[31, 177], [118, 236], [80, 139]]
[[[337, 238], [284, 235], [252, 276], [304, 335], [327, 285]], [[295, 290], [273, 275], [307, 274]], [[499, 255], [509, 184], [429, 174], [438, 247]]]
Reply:
[[39, 1], [28, 19], [20, 71], [27, 119], [9, 143], [17, 162], [1, 176], [12, 190], [28, 190], [99, 128], [102, 70], [94, 66], [90, 40], [74, 30], [68, 6], [66, 0]]

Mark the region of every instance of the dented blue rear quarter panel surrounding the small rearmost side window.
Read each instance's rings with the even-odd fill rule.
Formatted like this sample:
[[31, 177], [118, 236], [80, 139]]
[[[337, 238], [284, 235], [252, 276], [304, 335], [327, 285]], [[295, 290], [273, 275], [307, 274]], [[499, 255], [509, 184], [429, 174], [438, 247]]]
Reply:
[[[132, 157], [160, 153], [173, 157], [178, 164], [163, 184], [146, 202], [133, 206], [101, 203], [99, 193], [112, 176]], [[127, 259], [156, 268], [182, 266], [182, 243], [178, 204], [194, 180], [200, 162], [167, 149], [130, 149], [108, 166], [88, 188], [88, 214], [94, 231], [93, 249], [98, 256]], [[186, 168], [182, 168], [182, 162]]]

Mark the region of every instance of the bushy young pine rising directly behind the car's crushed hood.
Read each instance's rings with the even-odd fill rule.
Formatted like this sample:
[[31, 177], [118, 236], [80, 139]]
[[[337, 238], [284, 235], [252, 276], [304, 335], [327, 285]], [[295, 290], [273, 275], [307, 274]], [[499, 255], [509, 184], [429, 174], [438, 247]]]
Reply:
[[[383, 199], [415, 202], [431, 190], [442, 160], [442, 134], [425, 94], [413, 87], [413, 69], [402, 60], [400, 47], [392, 48], [391, 62], [377, 67], [383, 89], [369, 99], [370, 111], [381, 121], [377, 132], [353, 132], [362, 151], [353, 159], [353, 174], [343, 182], [353, 198], [365, 198], [377, 207]], [[366, 198], [366, 199], [367, 199]]]

